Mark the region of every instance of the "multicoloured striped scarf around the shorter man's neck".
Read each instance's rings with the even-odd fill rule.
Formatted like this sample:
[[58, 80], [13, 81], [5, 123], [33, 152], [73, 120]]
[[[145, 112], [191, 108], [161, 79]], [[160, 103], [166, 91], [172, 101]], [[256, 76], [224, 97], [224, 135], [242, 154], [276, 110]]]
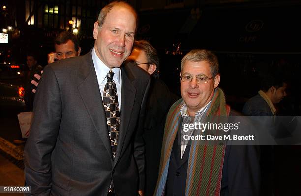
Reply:
[[[164, 196], [165, 193], [170, 155], [179, 129], [180, 108], [183, 104], [183, 99], [178, 100], [167, 114], [155, 196]], [[206, 111], [205, 122], [219, 122], [219, 116], [229, 116], [229, 112], [230, 107], [226, 105], [223, 91], [216, 88]], [[219, 196], [225, 146], [199, 145], [199, 142], [200, 140], [193, 140], [189, 146], [185, 196]]]

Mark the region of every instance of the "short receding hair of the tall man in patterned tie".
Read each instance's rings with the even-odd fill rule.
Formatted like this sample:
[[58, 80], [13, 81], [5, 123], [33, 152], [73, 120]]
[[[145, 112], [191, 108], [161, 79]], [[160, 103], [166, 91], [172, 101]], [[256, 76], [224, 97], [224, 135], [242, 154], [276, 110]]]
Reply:
[[127, 2], [124, 2], [124, 1], [113, 1], [109, 4], [107, 4], [106, 6], [104, 6], [101, 10], [100, 10], [100, 13], [98, 15], [98, 19], [97, 19], [97, 23], [99, 25], [99, 28], [101, 28], [101, 26], [103, 25], [108, 13], [112, 10], [113, 7], [115, 6], [123, 6], [123, 7], [127, 7], [129, 8], [133, 14], [135, 15], [135, 18], [136, 18], [136, 24], [138, 23], [138, 15], [137, 15], [137, 12], [135, 11], [135, 9], [130, 5], [128, 4]]

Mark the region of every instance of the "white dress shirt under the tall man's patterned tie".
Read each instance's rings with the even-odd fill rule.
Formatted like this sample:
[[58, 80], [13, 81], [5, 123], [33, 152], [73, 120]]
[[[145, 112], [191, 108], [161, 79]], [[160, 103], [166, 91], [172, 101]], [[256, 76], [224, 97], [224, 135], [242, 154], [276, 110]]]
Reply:
[[[96, 71], [98, 86], [101, 94], [101, 98], [103, 100], [103, 90], [107, 83], [106, 75], [110, 71], [110, 68], [107, 67], [96, 55], [95, 47], [92, 49], [92, 59], [93, 64]], [[112, 69], [114, 72], [113, 80], [116, 84], [117, 96], [118, 96], [118, 104], [119, 104], [119, 114], [121, 116], [121, 86], [122, 86], [122, 78], [121, 78], [121, 70], [119, 67], [115, 67]]]

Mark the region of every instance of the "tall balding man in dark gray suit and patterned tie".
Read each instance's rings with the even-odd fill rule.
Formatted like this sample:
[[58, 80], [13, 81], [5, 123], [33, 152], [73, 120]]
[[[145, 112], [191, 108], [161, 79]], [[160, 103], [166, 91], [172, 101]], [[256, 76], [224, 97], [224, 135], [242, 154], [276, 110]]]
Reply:
[[87, 55], [45, 67], [24, 151], [32, 194], [142, 195], [141, 126], [150, 77], [121, 66], [136, 22], [130, 5], [110, 3], [94, 24], [96, 41]]

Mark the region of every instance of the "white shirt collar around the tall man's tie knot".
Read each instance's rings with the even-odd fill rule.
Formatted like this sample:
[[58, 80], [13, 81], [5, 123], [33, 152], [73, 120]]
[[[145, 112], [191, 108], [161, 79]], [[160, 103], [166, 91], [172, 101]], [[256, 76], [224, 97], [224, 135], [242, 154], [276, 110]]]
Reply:
[[[96, 73], [98, 73], [97, 76], [99, 77], [99, 79], [102, 83], [104, 80], [106, 80], [106, 75], [110, 71], [110, 68], [107, 67], [96, 55], [95, 47], [93, 47], [93, 49], [92, 49], [92, 59], [93, 59], [95, 71], [96, 71]], [[116, 77], [118, 84], [121, 85], [121, 83], [120, 83], [121, 82], [120, 67], [115, 67], [112, 69], [112, 71], [114, 72], [113, 78]]]

